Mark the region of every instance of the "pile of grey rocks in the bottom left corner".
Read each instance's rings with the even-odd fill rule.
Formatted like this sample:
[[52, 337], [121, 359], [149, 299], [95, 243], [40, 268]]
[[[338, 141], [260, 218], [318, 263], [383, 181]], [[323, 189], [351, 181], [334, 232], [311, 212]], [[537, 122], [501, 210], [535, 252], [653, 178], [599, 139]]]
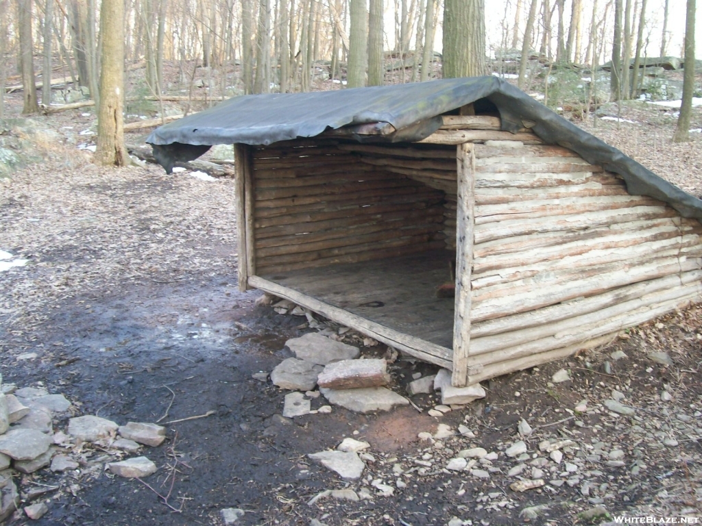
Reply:
[[[156, 447], [166, 438], [166, 429], [156, 424], [128, 422], [124, 426], [93, 415], [69, 418], [66, 432], [54, 430], [55, 417], [67, 417], [73, 405], [61, 394], [50, 394], [43, 386], [17, 389], [2, 384], [0, 377], [0, 522], [20, 508], [16, 474], [43, 468], [54, 473], [98, 475], [107, 468], [123, 477], [145, 477], [157, 466], [146, 457], [122, 460], [142, 445]], [[86, 443], [100, 447], [91, 459]], [[32, 520], [49, 511], [45, 501], [30, 504], [45, 492], [27, 492], [23, 511]]]

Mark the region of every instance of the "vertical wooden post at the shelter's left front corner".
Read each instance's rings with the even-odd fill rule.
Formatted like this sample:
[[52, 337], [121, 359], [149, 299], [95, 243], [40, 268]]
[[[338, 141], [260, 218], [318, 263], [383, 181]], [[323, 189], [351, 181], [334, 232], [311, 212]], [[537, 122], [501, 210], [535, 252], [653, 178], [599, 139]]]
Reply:
[[239, 290], [249, 290], [249, 276], [254, 274], [253, 254], [253, 175], [251, 148], [234, 144], [234, 180], [237, 206], [237, 248], [239, 252]]

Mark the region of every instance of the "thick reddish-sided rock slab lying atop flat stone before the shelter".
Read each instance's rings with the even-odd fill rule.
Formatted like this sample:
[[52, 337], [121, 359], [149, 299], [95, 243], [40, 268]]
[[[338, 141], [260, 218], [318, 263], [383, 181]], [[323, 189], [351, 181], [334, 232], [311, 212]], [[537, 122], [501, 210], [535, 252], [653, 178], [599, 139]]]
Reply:
[[317, 384], [327, 389], [360, 389], [389, 383], [388, 362], [382, 358], [329, 363], [317, 378]]

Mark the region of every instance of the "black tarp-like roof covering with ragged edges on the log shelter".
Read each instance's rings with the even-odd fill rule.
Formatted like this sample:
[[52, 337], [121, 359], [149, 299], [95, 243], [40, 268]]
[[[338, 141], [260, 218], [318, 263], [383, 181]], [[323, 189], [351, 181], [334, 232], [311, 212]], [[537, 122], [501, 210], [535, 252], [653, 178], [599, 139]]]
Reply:
[[213, 144], [272, 144], [365, 123], [390, 123], [398, 131], [385, 140], [413, 142], [437, 129], [437, 116], [482, 99], [498, 109], [503, 130], [516, 132], [531, 121], [531, 130], [548, 144], [576, 151], [589, 163], [621, 175], [630, 194], [665, 201], [684, 217], [702, 220], [700, 199], [495, 76], [233, 97], [157, 128], [147, 142], [167, 171], [176, 161], [196, 159]]

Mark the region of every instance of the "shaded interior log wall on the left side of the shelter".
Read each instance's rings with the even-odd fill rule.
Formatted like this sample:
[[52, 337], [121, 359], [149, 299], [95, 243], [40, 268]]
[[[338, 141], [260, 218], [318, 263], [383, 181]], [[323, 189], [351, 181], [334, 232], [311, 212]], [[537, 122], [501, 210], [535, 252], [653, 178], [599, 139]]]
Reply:
[[343, 144], [259, 147], [251, 167], [258, 275], [444, 245], [444, 193], [382, 164], [361, 163]]

